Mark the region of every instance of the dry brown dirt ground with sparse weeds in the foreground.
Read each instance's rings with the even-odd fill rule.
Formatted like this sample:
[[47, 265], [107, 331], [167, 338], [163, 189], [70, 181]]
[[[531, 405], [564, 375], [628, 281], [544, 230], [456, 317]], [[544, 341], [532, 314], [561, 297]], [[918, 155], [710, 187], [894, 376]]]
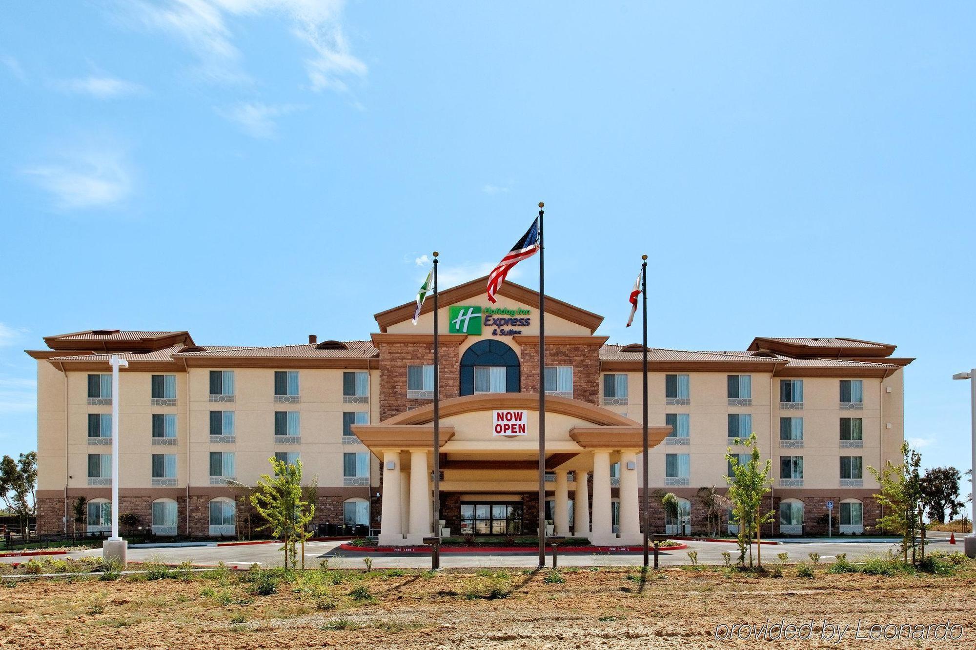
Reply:
[[[228, 571], [0, 588], [0, 644], [35, 648], [976, 647], [976, 569], [953, 577], [723, 576], [666, 569], [422, 573], [315, 570], [277, 592]], [[549, 576], [549, 578], [547, 578]], [[559, 583], [562, 579], [565, 582]], [[252, 579], [253, 580], [253, 579]], [[358, 599], [356, 598], [358, 596]], [[825, 634], [824, 620], [828, 622]], [[951, 621], [956, 640], [857, 640], [874, 624]], [[812, 639], [729, 639], [732, 624]], [[860, 631], [856, 630], [861, 621]], [[837, 642], [832, 626], [850, 625]], [[775, 636], [777, 628], [766, 629]], [[890, 629], [889, 629], [890, 630]], [[915, 630], [918, 630], [917, 628]], [[781, 633], [785, 630], [781, 630]], [[754, 632], [753, 632], [754, 633]], [[890, 633], [890, 632], [889, 632]], [[916, 632], [918, 633], [918, 632]], [[833, 639], [825, 639], [823, 636]], [[760, 632], [761, 636], [761, 632]]]

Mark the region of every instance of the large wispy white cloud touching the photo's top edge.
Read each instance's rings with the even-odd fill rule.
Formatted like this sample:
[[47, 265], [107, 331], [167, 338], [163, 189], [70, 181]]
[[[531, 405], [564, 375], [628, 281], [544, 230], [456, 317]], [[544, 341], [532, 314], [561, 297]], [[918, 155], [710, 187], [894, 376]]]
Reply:
[[240, 66], [227, 19], [283, 15], [292, 34], [312, 55], [305, 72], [313, 90], [347, 90], [346, 78], [363, 77], [367, 66], [350, 52], [339, 21], [344, 0], [120, 0], [119, 10], [151, 29], [178, 38], [200, 61], [202, 76], [222, 83], [250, 82]]

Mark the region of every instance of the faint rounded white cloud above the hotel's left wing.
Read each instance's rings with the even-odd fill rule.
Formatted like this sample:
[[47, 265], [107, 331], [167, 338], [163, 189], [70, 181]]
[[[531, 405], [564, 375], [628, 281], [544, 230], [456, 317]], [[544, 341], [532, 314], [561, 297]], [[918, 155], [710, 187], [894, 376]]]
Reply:
[[110, 207], [132, 193], [133, 172], [121, 147], [91, 143], [55, 158], [20, 171], [50, 193], [61, 210]]

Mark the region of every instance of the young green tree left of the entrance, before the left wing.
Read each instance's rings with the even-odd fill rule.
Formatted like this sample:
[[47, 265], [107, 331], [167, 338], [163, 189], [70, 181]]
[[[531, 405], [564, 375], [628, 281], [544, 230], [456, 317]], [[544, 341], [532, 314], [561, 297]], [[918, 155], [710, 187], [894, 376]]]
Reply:
[[[295, 465], [286, 464], [274, 458], [268, 462], [274, 470], [274, 476], [262, 474], [258, 479], [258, 487], [251, 494], [251, 505], [258, 510], [258, 514], [267, 520], [258, 530], [269, 529], [271, 535], [284, 540], [285, 568], [298, 568], [298, 542], [305, 543], [311, 533], [305, 531], [305, 526], [315, 514], [315, 506], [302, 498], [302, 461]], [[302, 557], [305, 565], [305, 556]]]

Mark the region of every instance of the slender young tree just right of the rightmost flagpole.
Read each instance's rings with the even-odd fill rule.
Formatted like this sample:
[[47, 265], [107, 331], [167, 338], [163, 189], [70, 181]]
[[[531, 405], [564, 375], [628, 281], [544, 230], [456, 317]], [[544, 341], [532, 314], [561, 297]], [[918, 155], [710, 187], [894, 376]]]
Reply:
[[[746, 562], [746, 548], [749, 548], [749, 566], [752, 568], [752, 538], [755, 537], [759, 526], [772, 521], [773, 511], [762, 511], [762, 498], [769, 492], [773, 479], [769, 477], [772, 461], [759, 462], [759, 448], [755, 442], [755, 433], [746, 440], [736, 440], [736, 446], [750, 448], [750, 459], [745, 465], [739, 463], [739, 455], [728, 448], [725, 460], [732, 466], [732, 476], [726, 476], [728, 481], [728, 499], [732, 504], [732, 512], [739, 524], [739, 562]], [[758, 566], [762, 566], [761, 560]]]

